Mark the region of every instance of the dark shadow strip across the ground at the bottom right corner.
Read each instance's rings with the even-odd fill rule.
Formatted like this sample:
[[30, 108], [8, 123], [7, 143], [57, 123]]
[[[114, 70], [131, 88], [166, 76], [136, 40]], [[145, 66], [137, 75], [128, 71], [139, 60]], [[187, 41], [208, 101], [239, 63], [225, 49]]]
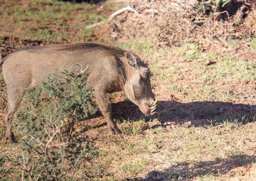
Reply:
[[255, 162], [255, 156], [239, 154], [229, 156], [227, 159], [216, 158], [214, 161], [199, 161], [193, 165], [189, 163], [178, 163], [161, 171], [154, 170], [148, 172], [146, 178], [130, 179], [130, 181], [190, 180], [195, 177], [203, 177], [216, 173], [224, 174], [229, 172], [232, 174], [232, 171], [234, 172], [236, 168]]

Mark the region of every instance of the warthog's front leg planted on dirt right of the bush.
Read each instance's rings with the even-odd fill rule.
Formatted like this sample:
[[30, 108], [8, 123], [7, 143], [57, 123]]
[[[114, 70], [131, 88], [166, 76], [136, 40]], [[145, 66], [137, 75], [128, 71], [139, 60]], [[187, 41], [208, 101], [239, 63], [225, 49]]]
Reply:
[[99, 106], [99, 109], [101, 110], [103, 116], [106, 118], [107, 124], [108, 124], [108, 130], [111, 134], [116, 133], [120, 134], [115, 121], [112, 118], [112, 111], [111, 111], [111, 105], [110, 101], [108, 100], [108, 96], [106, 92], [97, 91], [95, 89], [95, 97], [96, 97], [96, 103]]

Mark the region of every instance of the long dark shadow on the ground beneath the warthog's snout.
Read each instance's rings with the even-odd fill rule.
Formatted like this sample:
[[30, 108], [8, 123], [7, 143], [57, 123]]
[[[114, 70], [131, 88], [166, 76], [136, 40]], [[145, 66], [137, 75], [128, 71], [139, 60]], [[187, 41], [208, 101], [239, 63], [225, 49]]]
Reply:
[[212, 101], [190, 103], [158, 101], [157, 105], [161, 110], [158, 116], [144, 116], [137, 105], [134, 105], [130, 101], [113, 103], [113, 117], [120, 122], [128, 119], [138, 120], [141, 117], [144, 117], [146, 121], [158, 118], [163, 123], [161, 127], [166, 127], [170, 124], [182, 125], [188, 122], [190, 125], [199, 127], [210, 124], [214, 126], [224, 121], [235, 121], [240, 124], [256, 121], [256, 106], [254, 105]]

